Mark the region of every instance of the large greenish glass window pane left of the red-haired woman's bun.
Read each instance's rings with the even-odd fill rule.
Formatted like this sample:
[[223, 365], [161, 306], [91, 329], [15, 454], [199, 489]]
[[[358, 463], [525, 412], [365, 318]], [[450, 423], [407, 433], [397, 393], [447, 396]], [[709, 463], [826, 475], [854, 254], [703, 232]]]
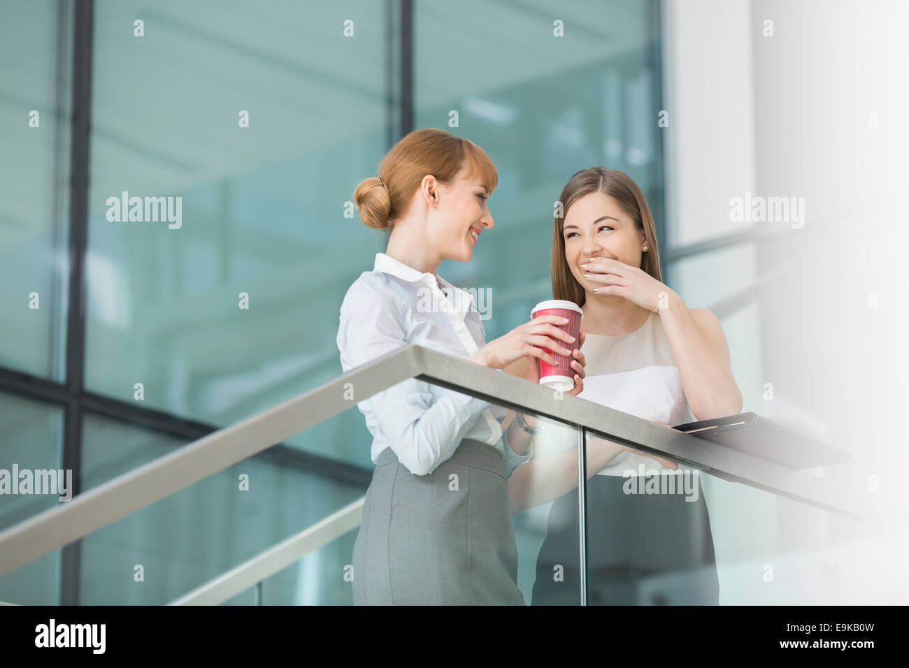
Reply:
[[[345, 203], [386, 149], [385, 6], [95, 3], [89, 389], [231, 424], [340, 373], [338, 308], [379, 250]], [[179, 228], [144, 199], [108, 220], [123, 193], [182, 198]]]

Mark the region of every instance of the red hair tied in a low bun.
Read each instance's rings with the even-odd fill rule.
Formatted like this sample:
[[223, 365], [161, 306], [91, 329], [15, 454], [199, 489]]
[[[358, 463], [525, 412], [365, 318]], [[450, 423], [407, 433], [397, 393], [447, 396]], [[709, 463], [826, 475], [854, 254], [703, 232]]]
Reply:
[[387, 230], [401, 220], [424, 176], [443, 184], [454, 180], [462, 168], [467, 178], [477, 176], [492, 193], [499, 183], [489, 155], [469, 139], [427, 127], [405, 135], [379, 163], [379, 175], [356, 186], [354, 204], [360, 219], [376, 230]]

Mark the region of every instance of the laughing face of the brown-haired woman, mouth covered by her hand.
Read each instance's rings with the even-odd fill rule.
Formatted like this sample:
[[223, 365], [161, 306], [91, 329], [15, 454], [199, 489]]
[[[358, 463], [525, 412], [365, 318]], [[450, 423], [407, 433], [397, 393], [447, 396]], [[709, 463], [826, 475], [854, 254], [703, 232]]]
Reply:
[[600, 285], [584, 278], [581, 269], [581, 264], [591, 257], [641, 266], [644, 231], [637, 228], [634, 218], [608, 194], [585, 194], [571, 204], [565, 212], [562, 238], [568, 269], [584, 292], [589, 293]]

